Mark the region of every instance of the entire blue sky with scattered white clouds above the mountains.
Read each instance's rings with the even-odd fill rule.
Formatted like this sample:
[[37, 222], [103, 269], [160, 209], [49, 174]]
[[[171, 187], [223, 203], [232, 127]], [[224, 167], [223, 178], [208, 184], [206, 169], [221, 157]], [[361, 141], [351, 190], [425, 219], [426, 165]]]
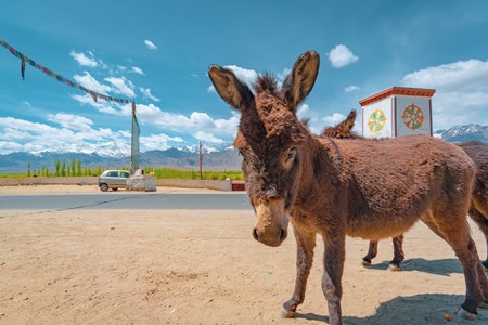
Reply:
[[[0, 12], [0, 39], [24, 55], [136, 101], [142, 151], [232, 142], [239, 114], [208, 66], [283, 80], [307, 50], [321, 66], [298, 113], [316, 132], [391, 86], [437, 90], [434, 130], [488, 125], [488, 1], [17, 0]], [[0, 47], [0, 154], [129, 153], [130, 130], [130, 104], [94, 102], [28, 64], [22, 80]]]

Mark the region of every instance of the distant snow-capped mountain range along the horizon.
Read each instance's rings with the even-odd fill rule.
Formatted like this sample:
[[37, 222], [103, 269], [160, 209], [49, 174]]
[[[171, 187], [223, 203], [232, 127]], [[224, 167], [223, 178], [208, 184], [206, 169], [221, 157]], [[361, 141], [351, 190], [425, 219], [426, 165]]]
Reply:
[[[448, 130], [435, 131], [434, 136], [449, 141], [449, 142], [466, 142], [480, 141], [488, 144], [488, 126], [465, 125], [457, 126]], [[170, 167], [178, 169], [200, 169], [200, 153], [198, 145], [185, 147], [171, 147], [166, 151], [147, 151], [141, 153], [140, 166], [152, 167]], [[219, 147], [203, 146], [202, 168], [203, 170], [240, 170], [242, 158], [239, 152], [234, 150], [231, 144], [223, 144]], [[55, 161], [63, 160], [69, 164], [74, 159], [81, 160], [81, 166], [117, 168], [130, 166], [130, 155], [123, 152], [93, 152], [85, 153], [80, 151], [65, 152], [42, 152], [42, 153], [27, 153], [15, 152], [5, 155], [0, 155], [0, 172], [15, 173], [26, 172], [27, 165], [30, 162], [31, 169], [40, 169], [42, 166], [48, 167], [50, 171], [55, 170]]]

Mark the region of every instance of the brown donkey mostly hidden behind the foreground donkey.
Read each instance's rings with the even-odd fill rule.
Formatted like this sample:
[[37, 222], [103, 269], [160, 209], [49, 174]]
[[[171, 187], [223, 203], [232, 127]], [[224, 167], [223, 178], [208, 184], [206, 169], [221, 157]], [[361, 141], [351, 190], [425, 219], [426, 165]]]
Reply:
[[[345, 120], [334, 127], [325, 128], [321, 136], [336, 139], [361, 139], [352, 131], [356, 121], [356, 109], [351, 109]], [[488, 271], [488, 145], [478, 141], [470, 141], [458, 144], [473, 159], [476, 167], [475, 183], [471, 196], [470, 217], [479, 226], [486, 238], [487, 258], [481, 264]], [[370, 265], [371, 260], [377, 255], [377, 242], [370, 240], [368, 253], [362, 258], [364, 265]], [[400, 263], [404, 259], [403, 235], [393, 237], [394, 259], [389, 262], [388, 270], [399, 271]]]

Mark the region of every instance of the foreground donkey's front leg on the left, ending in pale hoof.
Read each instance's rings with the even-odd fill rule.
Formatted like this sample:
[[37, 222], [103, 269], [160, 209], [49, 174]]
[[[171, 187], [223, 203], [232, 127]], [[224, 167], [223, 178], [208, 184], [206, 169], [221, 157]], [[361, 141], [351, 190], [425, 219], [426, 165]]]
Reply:
[[294, 224], [296, 238], [296, 281], [292, 299], [283, 303], [280, 316], [291, 318], [295, 315], [298, 304], [304, 302], [308, 275], [313, 262], [313, 248], [316, 247], [316, 233], [304, 231], [299, 224]]

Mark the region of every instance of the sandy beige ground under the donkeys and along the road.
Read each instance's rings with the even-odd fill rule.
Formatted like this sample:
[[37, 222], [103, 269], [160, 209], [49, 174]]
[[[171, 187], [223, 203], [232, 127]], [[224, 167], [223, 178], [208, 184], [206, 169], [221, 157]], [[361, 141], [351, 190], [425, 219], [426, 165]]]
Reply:
[[[207, 192], [158, 187], [158, 192]], [[5, 194], [100, 193], [97, 186], [0, 187]], [[144, 195], [144, 193], [141, 193]], [[328, 324], [318, 238], [307, 297], [279, 317], [295, 281], [295, 242], [270, 248], [251, 235], [252, 211], [0, 210], [0, 324]], [[480, 256], [481, 233], [473, 225]], [[465, 286], [451, 248], [416, 224], [401, 272], [375, 264], [368, 243], [347, 239], [345, 324], [488, 324], [455, 317]], [[445, 320], [445, 315], [452, 321]]]

